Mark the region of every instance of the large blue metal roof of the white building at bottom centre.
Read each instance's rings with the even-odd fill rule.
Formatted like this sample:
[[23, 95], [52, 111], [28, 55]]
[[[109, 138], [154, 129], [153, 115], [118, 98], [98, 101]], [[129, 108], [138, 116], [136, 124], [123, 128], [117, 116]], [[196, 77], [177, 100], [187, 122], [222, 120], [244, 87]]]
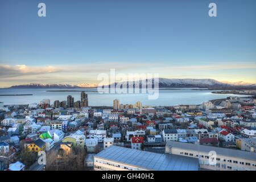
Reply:
[[95, 157], [152, 171], [199, 170], [199, 160], [196, 158], [173, 154], [157, 154], [118, 146], [108, 147]]

